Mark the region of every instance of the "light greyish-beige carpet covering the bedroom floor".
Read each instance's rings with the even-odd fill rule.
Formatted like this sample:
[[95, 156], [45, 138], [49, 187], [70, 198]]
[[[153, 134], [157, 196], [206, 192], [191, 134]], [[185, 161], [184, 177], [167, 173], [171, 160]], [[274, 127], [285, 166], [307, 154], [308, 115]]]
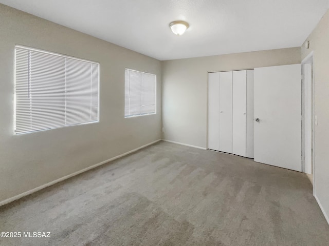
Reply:
[[305, 174], [158, 142], [0, 208], [0, 245], [328, 246]]

